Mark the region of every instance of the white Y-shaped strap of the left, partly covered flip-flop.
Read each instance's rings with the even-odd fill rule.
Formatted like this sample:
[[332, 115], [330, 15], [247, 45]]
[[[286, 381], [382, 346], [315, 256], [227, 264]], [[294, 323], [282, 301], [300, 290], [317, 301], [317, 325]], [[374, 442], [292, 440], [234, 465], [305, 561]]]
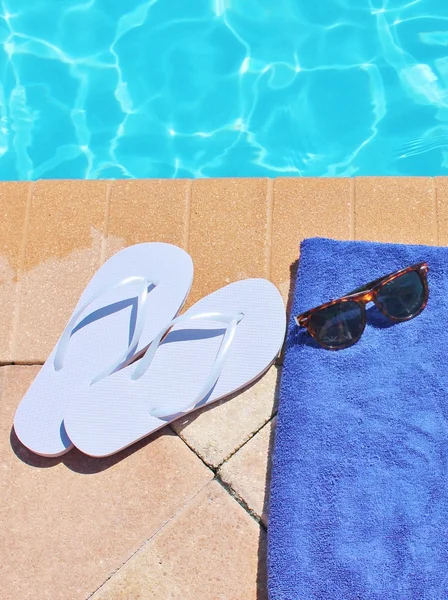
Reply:
[[96, 300], [109, 294], [110, 292], [117, 290], [122, 287], [126, 287], [131, 283], [139, 283], [139, 291], [137, 295], [137, 317], [135, 320], [134, 333], [132, 335], [132, 339], [129, 342], [126, 351], [119, 356], [116, 360], [113, 361], [108, 367], [103, 369], [100, 373], [98, 373], [92, 380], [91, 383], [95, 383], [104, 377], [107, 377], [111, 373], [115, 371], [117, 367], [119, 367], [129, 356], [129, 353], [134, 350], [139, 342], [140, 336], [143, 331], [144, 322], [145, 322], [145, 311], [144, 306], [148, 299], [148, 287], [152, 285], [157, 285], [157, 282], [148, 281], [145, 277], [127, 277], [126, 279], [122, 279], [118, 283], [112, 283], [100, 288], [93, 296], [91, 296], [80, 308], [75, 311], [72, 315], [70, 321], [67, 323], [62, 335], [59, 339], [58, 345], [56, 347], [56, 352], [54, 355], [53, 366], [55, 371], [60, 371], [64, 366], [65, 355], [67, 354], [67, 349], [70, 343], [70, 339], [72, 333], [78, 323], [80, 316], [83, 314], [85, 310]]

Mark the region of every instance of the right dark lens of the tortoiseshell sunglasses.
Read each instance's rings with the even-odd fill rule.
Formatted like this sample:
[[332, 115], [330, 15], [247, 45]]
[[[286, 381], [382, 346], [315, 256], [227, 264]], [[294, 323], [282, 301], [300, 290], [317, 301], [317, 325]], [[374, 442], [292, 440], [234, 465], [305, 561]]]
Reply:
[[425, 299], [423, 281], [416, 271], [411, 271], [383, 285], [376, 303], [390, 317], [405, 320], [420, 312]]

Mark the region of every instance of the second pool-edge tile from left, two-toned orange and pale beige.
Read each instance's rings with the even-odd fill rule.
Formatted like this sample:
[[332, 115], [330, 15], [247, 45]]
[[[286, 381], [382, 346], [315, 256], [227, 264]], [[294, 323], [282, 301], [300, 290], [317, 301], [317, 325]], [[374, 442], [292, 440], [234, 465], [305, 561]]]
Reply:
[[43, 362], [89, 279], [104, 238], [107, 181], [33, 186], [21, 280], [15, 362]]

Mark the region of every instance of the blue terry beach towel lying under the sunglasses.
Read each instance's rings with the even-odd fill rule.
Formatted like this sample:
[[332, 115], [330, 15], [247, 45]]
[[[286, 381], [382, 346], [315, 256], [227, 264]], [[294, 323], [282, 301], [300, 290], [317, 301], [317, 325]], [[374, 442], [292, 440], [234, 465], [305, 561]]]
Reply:
[[269, 514], [270, 600], [448, 599], [448, 248], [309, 239], [292, 315], [417, 262], [430, 298], [351, 348], [292, 321]]

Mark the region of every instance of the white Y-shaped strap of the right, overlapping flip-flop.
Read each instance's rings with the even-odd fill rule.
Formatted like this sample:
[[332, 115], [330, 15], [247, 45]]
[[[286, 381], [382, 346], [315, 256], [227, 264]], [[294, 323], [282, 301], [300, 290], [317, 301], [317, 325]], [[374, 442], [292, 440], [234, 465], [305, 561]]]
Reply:
[[[178, 323], [182, 323], [182, 322], [186, 322], [186, 321], [190, 321], [190, 322], [191, 321], [212, 321], [215, 323], [216, 322], [224, 323], [227, 326], [226, 332], [222, 338], [221, 345], [219, 347], [218, 354], [216, 355], [215, 362], [213, 363], [213, 366], [212, 366], [200, 392], [196, 396], [193, 403], [189, 403], [188, 406], [182, 407], [182, 409], [180, 411], [177, 410], [176, 412], [187, 412], [187, 411], [192, 410], [195, 406], [197, 406], [197, 404], [199, 402], [201, 402], [201, 400], [206, 398], [208, 396], [208, 394], [212, 391], [212, 389], [215, 387], [216, 382], [218, 381], [219, 376], [221, 375], [221, 372], [224, 367], [227, 356], [229, 354], [229, 350], [232, 345], [232, 342], [235, 338], [238, 323], [241, 321], [241, 319], [243, 317], [244, 317], [243, 313], [230, 314], [230, 313], [220, 313], [220, 312], [209, 312], [209, 313], [198, 313], [196, 315], [188, 315], [188, 314], [181, 315], [180, 317], [173, 319], [173, 321], [171, 321], [171, 323], [167, 327], [164, 327], [160, 331], [160, 333], [154, 338], [150, 347], [146, 351], [146, 354], [139, 361], [136, 369], [132, 373], [131, 379], [134, 379], [134, 380], [139, 379], [146, 372], [146, 370], [148, 369], [149, 365], [151, 364], [151, 362], [155, 356], [155, 353], [157, 352], [157, 349], [159, 348], [159, 345], [160, 345], [162, 339], [170, 331], [170, 329], [172, 329], [172, 327], [174, 327], [174, 325], [177, 325]], [[154, 408], [150, 411], [150, 414], [152, 416], [158, 417], [158, 418], [166, 417], [168, 415], [171, 415], [172, 413], [173, 413], [173, 411], [170, 411], [169, 409], [166, 409], [166, 408]]]

